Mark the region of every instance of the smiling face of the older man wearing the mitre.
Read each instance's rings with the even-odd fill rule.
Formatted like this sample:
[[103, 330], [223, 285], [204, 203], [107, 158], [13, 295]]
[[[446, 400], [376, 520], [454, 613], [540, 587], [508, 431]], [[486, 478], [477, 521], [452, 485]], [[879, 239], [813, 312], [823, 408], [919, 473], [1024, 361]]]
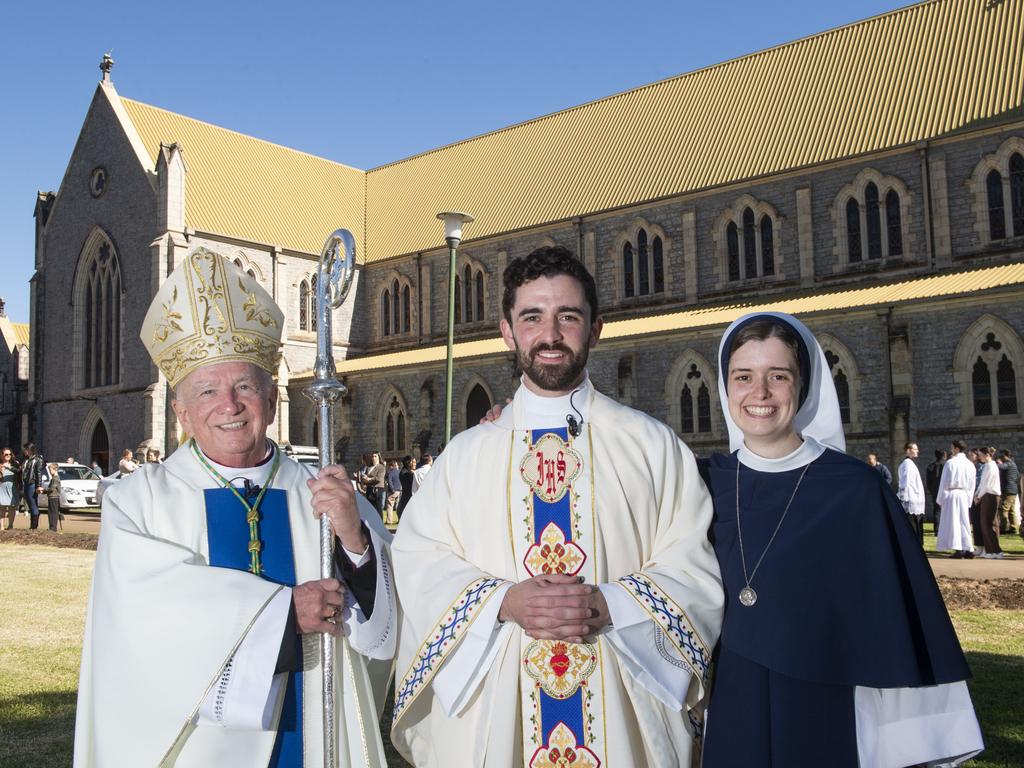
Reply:
[[189, 374], [172, 403], [200, 450], [226, 467], [255, 467], [266, 458], [266, 428], [278, 388], [251, 362], [217, 362]]

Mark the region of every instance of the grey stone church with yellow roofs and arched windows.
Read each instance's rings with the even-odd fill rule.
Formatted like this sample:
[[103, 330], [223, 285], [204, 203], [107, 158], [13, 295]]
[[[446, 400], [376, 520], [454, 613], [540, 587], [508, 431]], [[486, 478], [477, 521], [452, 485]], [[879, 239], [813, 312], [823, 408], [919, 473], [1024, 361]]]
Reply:
[[[518, 379], [501, 275], [577, 253], [606, 321], [591, 377], [698, 455], [727, 445], [716, 350], [756, 308], [826, 350], [849, 451], [922, 462], [951, 439], [1024, 450], [1024, 0], [932, 0], [360, 170], [126, 98], [104, 58], [59, 189], [36, 201], [28, 438], [47, 456], [174, 450], [173, 396], [137, 334], [197, 247], [285, 312], [273, 436], [312, 444], [326, 236], [356, 237], [336, 312], [338, 459], [436, 452], [449, 253], [453, 431]], [[415, 130], [415, 128], [412, 128]], [[311, 189], [316, 193], [310, 194]]]

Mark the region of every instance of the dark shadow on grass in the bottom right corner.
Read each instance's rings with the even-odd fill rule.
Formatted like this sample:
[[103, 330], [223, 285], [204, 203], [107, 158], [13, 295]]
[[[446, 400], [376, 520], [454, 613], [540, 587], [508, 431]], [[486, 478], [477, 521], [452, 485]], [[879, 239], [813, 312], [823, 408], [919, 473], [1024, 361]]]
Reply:
[[1024, 767], [1024, 664], [1020, 656], [969, 651], [968, 682], [985, 752], [969, 766]]

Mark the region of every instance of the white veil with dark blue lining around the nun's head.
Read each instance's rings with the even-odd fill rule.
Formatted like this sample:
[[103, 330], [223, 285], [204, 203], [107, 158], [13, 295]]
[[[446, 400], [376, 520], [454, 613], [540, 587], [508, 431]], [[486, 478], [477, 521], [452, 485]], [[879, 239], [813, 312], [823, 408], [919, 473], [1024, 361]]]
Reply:
[[839, 410], [839, 396], [836, 394], [836, 384], [825, 353], [818, 344], [814, 334], [792, 314], [782, 312], [754, 312], [744, 314], [725, 330], [718, 347], [718, 394], [722, 401], [722, 414], [729, 427], [729, 451], [736, 451], [743, 443], [743, 433], [729, 414], [729, 398], [726, 394], [728, 378], [728, 345], [732, 336], [740, 326], [750, 324], [755, 318], [771, 318], [790, 326], [803, 340], [807, 348], [810, 372], [807, 382], [807, 397], [797, 416], [793, 427], [802, 437], [813, 437], [822, 445], [837, 451], [846, 452], [846, 437], [843, 434], [843, 418]]

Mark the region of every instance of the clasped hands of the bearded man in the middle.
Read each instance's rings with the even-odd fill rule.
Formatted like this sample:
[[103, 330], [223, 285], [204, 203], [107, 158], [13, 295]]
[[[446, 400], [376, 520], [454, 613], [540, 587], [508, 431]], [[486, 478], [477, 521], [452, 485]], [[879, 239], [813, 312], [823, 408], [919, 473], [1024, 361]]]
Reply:
[[601, 591], [563, 573], [534, 577], [511, 587], [498, 617], [514, 622], [538, 640], [570, 643], [582, 643], [611, 622]]

